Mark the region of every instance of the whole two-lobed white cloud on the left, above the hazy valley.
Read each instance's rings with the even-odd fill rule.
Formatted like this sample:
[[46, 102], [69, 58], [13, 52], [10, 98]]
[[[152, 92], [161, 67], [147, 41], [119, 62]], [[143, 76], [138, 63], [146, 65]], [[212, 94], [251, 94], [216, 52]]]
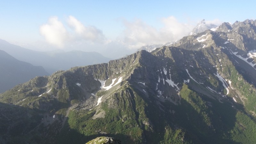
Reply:
[[46, 42], [60, 48], [79, 41], [91, 44], [104, 43], [105, 36], [101, 30], [93, 26], [84, 26], [73, 16], [68, 17], [67, 23], [71, 31], [64, 27], [58, 17], [51, 17], [46, 24], [40, 26], [40, 33], [44, 36]]

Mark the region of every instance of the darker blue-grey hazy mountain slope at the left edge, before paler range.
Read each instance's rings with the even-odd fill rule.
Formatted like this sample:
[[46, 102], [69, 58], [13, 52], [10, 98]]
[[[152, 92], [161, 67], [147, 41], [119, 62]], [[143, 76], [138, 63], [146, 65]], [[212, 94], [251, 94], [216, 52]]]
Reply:
[[43, 67], [20, 61], [0, 50], [0, 93], [36, 76], [49, 75]]

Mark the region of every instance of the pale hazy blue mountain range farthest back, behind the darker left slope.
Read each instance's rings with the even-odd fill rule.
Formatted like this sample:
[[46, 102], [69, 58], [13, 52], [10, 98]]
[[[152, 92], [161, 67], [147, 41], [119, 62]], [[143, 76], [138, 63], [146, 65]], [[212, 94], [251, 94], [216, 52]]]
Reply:
[[38, 52], [10, 44], [4, 40], [0, 40], [0, 50], [18, 60], [42, 66], [50, 74], [57, 70], [67, 70], [76, 66], [92, 65], [110, 60], [97, 52]]

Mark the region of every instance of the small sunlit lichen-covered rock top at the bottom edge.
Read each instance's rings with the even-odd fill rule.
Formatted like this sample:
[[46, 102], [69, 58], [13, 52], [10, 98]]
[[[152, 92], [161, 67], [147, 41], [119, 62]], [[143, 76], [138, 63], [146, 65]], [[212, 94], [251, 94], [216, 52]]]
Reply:
[[86, 144], [121, 144], [120, 140], [114, 140], [114, 138], [110, 137], [98, 137], [93, 139]]

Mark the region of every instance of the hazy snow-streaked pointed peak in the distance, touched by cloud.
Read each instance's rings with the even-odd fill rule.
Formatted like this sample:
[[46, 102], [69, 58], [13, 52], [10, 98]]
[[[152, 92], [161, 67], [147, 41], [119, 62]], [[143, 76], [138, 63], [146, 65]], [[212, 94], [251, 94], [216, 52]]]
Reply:
[[198, 33], [201, 33], [207, 29], [216, 28], [217, 25], [215, 24], [207, 24], [205, 20], [202, 20], [200, 23], [197, 24], [197, 26], [192, 30], [192, 32], [189, 35], [196, 35]]

